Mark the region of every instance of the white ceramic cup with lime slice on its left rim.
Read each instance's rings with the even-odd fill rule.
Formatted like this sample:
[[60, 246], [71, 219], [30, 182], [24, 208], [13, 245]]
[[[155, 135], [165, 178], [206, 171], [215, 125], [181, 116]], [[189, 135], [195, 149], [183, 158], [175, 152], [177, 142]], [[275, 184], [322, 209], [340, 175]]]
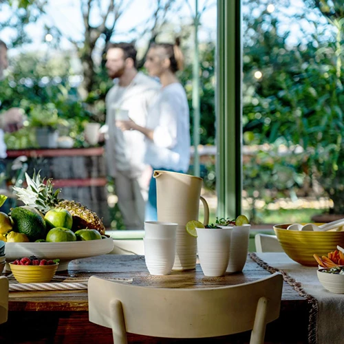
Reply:
[[232, 228], [196, 228], [197, 250], [204, 276], [223, 276], [228, 266]]

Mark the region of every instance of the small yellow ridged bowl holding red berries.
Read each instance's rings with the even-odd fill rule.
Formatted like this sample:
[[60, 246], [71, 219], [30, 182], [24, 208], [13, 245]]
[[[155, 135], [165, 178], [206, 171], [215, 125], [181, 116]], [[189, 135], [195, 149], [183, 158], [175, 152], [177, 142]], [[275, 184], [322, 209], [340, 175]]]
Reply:
[[10, 263], [10, 268], [19, 283], [47, 283], [54, 277], [58, 264], [14, 265]]

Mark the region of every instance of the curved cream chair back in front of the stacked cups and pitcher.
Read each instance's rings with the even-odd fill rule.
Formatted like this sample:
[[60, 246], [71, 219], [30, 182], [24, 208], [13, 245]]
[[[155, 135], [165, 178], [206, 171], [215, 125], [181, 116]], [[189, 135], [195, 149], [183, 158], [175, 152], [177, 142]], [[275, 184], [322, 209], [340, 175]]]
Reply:
[[127, 332], [164, 338], [206, 338], [252, 330], [264, 343], [266, 323], [279, 317], [283, 279], [275, 273], [235, 286], [200, 289], [133, 286], [91, 277], [89, 321], [112, 328], [114, 343]]

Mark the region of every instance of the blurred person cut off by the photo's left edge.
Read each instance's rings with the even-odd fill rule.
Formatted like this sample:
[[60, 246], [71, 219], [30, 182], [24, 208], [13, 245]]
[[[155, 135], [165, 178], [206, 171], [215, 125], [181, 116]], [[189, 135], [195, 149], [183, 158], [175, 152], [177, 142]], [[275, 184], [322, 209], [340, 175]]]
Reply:
[[[7, 46], [0, 40], [0, 80], [3, 79], [3, 71], [8, 67]], [[1, 100], [0, 100], [1, 101]], [[0, 102], [1, 103], [1, 102]], [[12, 107], [7, 111], [0, 110], [0, 158], [6, 158], [6, 144], [3, 140], [3, 132], [17, 131], [23, 127], [23, 109]]]

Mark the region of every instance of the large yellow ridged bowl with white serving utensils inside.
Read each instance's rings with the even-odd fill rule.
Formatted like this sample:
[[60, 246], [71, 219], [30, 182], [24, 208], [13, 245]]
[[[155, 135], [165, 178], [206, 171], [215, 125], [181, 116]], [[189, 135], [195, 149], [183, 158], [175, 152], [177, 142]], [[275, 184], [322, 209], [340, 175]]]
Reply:
[[314, 253], [327, 257], [327, 253], [336, 250], [337, 245], [344, 247], [344, 232], [287, 230], [288, 226], [290, 224], [277, 224], [274, 230], [284, 252], [301, 265], [318, 266]]

